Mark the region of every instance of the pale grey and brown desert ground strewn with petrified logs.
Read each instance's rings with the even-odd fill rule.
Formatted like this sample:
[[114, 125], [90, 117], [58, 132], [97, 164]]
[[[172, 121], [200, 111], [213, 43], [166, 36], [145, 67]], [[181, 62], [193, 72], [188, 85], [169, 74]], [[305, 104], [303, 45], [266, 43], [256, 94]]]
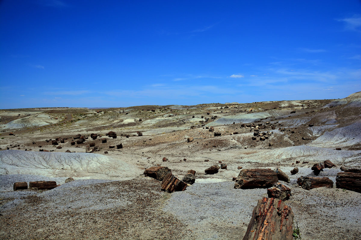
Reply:
[[[282, 182], [292, 193], [284, 203], [301, 239], [361, 239], [361, 193], [335, 185], [340, 167], [361, 168], [361, 92], [329, 100], [3, 109], [0, 117], [0, 239], [242, 239], [267, 189], [235, 189], [239, 167], [280, 168], [290, 177]], [[85, 141], [72, 145], [78, 134]], [[311, 168], [325, 160], [336, 167], [316, 174]], [[205, 174], [219, 161], [227, 168]], [[179, 179], [192, 169], [195, 182], [167, 193], [144, 176], [152, 166]], [[301, 176], [334, 185], [306, 190], [296, 182]], [[30, 181], [58, 186], [13, 191], [14, 182]]]

